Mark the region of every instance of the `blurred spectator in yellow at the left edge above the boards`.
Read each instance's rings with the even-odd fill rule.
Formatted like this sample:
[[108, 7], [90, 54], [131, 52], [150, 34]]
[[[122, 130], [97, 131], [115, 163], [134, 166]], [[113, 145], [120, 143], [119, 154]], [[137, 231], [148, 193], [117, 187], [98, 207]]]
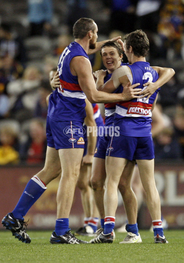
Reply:
[[19, 163], [18, 134], [10, 125], [0, 128], [0, 165]]

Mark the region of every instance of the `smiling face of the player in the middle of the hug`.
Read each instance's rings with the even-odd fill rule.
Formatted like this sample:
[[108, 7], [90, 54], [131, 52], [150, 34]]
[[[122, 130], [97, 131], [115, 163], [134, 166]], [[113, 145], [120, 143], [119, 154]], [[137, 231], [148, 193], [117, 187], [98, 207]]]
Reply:
[[101, 54], [103, 64], [106, 67], [108, 73], [112, 73], [121, 65], [121, 59], [123, 55], [121, 54], [120, 56], [115, 47], [103, 47]]

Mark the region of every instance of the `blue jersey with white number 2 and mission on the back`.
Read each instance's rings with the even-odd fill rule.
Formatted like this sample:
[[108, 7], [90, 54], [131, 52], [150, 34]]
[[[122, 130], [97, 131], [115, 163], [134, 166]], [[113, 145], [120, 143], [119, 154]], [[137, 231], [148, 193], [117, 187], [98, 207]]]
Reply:
[[[132, 71], [132, 85], [140, 83], [137, 88], [145, 89], [144, 83], [155, 82], [159, 77], [148, 62], [135, 62], [128, 67]], [[159, 90], [160, 88], [149, 99], [132, 99], [116, 104], [114, 126], [120, 127], [120, 134], [132, 137], [151, 136], [151, 107]]]

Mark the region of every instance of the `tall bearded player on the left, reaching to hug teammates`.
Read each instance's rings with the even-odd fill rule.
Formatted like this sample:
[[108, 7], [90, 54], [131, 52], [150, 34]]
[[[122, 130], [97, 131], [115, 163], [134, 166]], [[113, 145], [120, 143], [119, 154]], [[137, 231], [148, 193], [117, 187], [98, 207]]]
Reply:
[[[141, 89], [135, 88], [139, 83], [119, 94], [96, 90], [88, 54], [100, 50], [101, 45], [107, 41], [96, 44], [97, 32], [98, 27], [94, 20], [80, 18], [73, 27], [75, 41], [71, 42], [60, 55], [59, 79], [56, 73], [51, 82], [56, 90], [49, 97], [46, 127], [48, 146], [44, 168], [30, 179], [16, 207], [2, 219], [3, 226], [22, 242], [31, 242], [24, 228], [26, 224], [24, 216], [47, 189], [46, 185], [59, 176], [62, 170], [56, 197], [56, 227], [50, 242], [87, 243], [75, 238], [69, 228], [69, 214], [84, 150], [82, 125], [86, 117], [85, 98], [87, 97], [91, 103], [139, 98], [137, 94]], [[90, 48], [93, 50], [89, 52]]]

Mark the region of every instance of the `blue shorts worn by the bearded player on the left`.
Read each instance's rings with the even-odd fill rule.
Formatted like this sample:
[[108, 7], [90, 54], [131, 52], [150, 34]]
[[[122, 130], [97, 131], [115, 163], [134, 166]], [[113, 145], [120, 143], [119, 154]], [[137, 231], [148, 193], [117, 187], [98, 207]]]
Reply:
[[47, 145], [52, 148], [84, 148], [83, 135], [86, 131], [79, 121], [58, 122], [47, 116]]

